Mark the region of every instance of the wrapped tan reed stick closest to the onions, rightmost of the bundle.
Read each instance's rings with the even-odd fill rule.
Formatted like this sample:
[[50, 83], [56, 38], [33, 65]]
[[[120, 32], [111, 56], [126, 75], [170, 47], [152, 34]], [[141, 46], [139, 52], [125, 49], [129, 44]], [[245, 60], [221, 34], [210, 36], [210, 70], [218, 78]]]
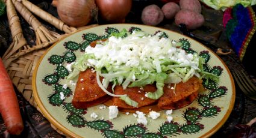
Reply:
[[51, 25], [55, 26], [55, 28], [58, 28], [61, 31], [64, 31], [67, 34], [76, 31], [76, 28], [67, 26], [61, 20], [57, 19], [56, 17], [52, 16], [46, 11], [40, 9], [36, 5], [32, 4], [30, 1], [22, 0], [22, 4], [25, 5], [25, 7], [27, 7], [28, 10], [30, 10], [32, 13], [39, 16], [41, 19], [45, 20], [48, 23], [51, 23]]

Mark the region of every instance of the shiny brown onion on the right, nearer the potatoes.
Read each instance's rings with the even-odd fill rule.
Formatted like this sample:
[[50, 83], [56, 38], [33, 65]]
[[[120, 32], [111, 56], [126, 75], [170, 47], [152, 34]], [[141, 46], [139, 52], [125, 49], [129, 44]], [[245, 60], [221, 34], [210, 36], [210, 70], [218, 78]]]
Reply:
[[131, 10], [132, 0], [95, 0], [101, 19], [111, 22], [124, 22]]

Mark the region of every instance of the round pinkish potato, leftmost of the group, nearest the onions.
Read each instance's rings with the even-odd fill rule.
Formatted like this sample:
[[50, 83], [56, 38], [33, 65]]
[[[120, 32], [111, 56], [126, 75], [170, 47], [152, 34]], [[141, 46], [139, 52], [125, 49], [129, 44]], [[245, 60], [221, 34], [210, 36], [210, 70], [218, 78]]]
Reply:
[[161, 9], [155, 5], [148, 5], [142, 11], [142, 22], [145, 25], [156, 26], [164, 19], [164, 14]]

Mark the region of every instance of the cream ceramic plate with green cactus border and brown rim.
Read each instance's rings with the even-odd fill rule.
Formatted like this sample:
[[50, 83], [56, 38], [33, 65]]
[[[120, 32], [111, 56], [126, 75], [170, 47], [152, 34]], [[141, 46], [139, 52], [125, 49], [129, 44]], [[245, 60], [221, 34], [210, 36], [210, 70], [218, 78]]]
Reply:
[[[87, 110], [75, 109], [70, 103], [75, 86], [63, 88], [64, 77], [69, 74], [67, 63], [75, 61], [83, 54], [91, 41], [107, 38], [111, 32], [125, 28], [129, 32], [142, 30], [149, 34], [161, 32], [160, 37], [182, 43], [188, 53], [199, 53], [206, 63], [204, 70], [220, 76], [219, 82], [210, 80], [204, 84], [207, 91], [187, 107], [173, 110], [173, 121], [166, 119], [166, 110], [160, 117], [148, 118], [148, 125], [137, 123], [133, 113], [119, 112], [115, 119], [108, 119], [108, 108], [99, 106]], [[61, 100], [60, 92], [64, 95]], [[33, 74], [33, 94], [36, 102], [48, 120], [70, 137], [208, 137], [215, 133], [226, 121], [234, 105], [234, 81], [226, 65], [210, 49], [189, 37], [145, 25], [113, 24], [71, 34], [50, 47], [42, 56]], [[95, 112], [98, 118], [90, 115]]]

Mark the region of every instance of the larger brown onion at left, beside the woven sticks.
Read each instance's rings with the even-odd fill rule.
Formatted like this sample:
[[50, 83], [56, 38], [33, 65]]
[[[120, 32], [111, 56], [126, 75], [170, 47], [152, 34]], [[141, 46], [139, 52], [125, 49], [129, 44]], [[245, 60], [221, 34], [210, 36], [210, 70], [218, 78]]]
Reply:
[[85, 26], [98, 13], [94, 0], [58, 0], [58, 16], [70, 26]]

